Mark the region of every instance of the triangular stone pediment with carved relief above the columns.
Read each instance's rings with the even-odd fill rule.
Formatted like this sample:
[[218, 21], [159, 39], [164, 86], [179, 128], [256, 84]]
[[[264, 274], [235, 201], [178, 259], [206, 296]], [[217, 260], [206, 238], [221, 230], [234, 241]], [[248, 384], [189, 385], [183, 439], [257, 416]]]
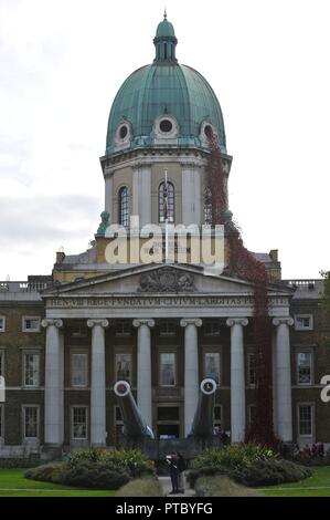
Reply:
[[[54, 285], [44, 291], [42, 297], [136, 293], [252, 295], [253, 285], [225, 274], [205, 274], [204, 269], [198, 266], [148, 264]], [[268, 294], [288, 295], [290, 291], [269, 284]]]

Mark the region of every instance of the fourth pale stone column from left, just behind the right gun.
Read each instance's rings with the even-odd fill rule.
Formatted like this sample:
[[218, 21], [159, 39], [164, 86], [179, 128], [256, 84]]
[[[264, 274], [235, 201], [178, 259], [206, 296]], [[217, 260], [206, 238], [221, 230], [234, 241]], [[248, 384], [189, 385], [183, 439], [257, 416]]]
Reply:
[[189, 435], [199, 402], [199, 335], [202, 320], [182, 319], [184, 327], [184, 435]]

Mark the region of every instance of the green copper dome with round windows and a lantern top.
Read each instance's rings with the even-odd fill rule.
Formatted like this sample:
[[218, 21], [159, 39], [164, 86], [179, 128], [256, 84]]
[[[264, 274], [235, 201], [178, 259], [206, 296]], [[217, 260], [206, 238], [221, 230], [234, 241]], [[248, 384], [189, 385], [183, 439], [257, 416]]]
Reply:
[[[205, 147], [204, 132], [210, 125], [221, 148], [226, 152], [224, 122], [216, 95], [198, 71], [178, 63], [177, 42], [173, 25], [164, 17], [153, 40], [153, 63], [130, 74], [115, 97], [108, 121], [107, 155], [127, 148], [164, 145]], [[161, 126], [162, 119], [168, 126]], [[159, 126], [164, 131], [159, 131], [161, 135]]]

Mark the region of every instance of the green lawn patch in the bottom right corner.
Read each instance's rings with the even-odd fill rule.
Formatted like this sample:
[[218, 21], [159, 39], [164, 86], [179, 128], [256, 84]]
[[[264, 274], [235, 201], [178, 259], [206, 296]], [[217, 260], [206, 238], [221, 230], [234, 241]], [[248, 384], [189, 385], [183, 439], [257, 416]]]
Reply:
[[312, 477], [300, 482], [263, 488], [266, 497], [330, 497], [330, 466], [315, 466]]

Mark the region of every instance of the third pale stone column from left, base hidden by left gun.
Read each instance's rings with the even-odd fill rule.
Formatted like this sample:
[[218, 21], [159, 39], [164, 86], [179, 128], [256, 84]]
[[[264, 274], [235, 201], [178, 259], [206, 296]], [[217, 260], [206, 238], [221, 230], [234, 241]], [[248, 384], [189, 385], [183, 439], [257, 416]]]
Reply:
[[147, 425], [152, 428], [152, 387], [151, 387], [151, 334], [153, 320], [134, 320], [138, 329], [138, 408]]

